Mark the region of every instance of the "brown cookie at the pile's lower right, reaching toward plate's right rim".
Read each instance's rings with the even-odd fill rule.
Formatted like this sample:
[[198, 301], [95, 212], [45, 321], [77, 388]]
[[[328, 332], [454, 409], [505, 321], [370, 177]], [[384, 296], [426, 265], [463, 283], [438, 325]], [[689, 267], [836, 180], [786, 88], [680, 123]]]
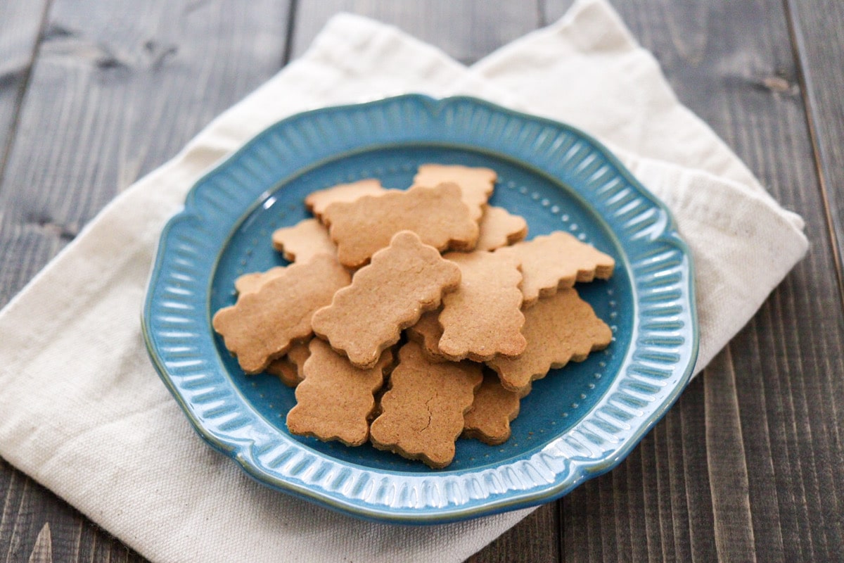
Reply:
[[515, 360], [499, 356], [487, 362], [501, 385], [511, 391], [524, 392], [551, 368], [586, 360], [590, 352], [606, 348], [613, 338], [606, 323], [573, 288], [538, 300], [524, 315], [522, 334], [527, 348], [522, 355]]

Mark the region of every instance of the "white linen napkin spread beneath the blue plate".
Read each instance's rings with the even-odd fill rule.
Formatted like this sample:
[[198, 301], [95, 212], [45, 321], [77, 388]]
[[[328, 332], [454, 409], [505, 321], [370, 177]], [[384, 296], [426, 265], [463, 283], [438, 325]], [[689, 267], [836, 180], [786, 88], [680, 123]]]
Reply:
[[694, 253], [697, 371], [807, 250], [802, 220], [679, 104], [603, 0], [576, 3], [472, 68], [339, 15], [303, 57], [110, 203], [0, 312], [0, 455], [155, 561], [459, 561], [525, 517], [398, 527], [257, 485], [197, 437], [144, 348], [154, 246], [208, 166], [297, 111], [411, 91], [535, 111], [616, 149]]

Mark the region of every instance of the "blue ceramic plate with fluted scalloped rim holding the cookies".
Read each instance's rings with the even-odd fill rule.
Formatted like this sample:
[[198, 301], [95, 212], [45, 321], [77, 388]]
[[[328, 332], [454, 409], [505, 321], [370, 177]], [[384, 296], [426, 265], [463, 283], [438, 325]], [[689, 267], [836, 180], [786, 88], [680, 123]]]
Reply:
[[[439, 471], [290, 436], [293, 391], [245, 376], [211, 328], [237, 276], [284, 264], [270, 235], [306, 218], [309, 192], [366, 177], [408, 187], [428, 162], [494, 169], [491, 203], [529, 236], [566, 230], [617, 263], [579, 287], [613, 329], [609, 349], [536, 382], [505, 444], [461, 439]], [[552, 501], [617, 465], [690, 377], [693, 293], [668, 210], [594, 139], [481, 100], [403, 95], [289, 117], [198, 181], [161, 235], [143, 332], [199, 435], [258, 481], [358, 517], [449, 522]]]

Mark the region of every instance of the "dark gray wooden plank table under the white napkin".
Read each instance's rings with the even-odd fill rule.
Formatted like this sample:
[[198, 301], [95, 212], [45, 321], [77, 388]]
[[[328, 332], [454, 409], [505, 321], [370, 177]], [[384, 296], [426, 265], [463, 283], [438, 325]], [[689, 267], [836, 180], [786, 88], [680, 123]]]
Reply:
[[[338, 10], [471, 63], [569, 4], [0, 3], [0, 305]], [[617, 8], [680, 100], [803, 215], [811, 251], [624, 463], [472, 560], [841, 560], [844, 4]], [[0, 499], [0, 560], [143, 560], [2, 460]]]

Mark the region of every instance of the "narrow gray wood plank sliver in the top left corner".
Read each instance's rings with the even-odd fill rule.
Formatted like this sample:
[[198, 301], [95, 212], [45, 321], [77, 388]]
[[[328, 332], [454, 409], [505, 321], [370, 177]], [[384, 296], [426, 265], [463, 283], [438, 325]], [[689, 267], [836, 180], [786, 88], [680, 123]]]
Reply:
[[0, 3], [0, 177], [48, 2]]

